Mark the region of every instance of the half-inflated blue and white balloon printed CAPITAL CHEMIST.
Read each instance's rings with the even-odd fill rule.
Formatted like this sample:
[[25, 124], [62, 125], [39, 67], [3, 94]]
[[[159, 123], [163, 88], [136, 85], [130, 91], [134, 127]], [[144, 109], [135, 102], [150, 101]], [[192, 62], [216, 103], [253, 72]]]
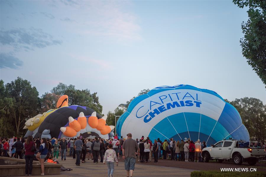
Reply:
[[180, 84], [160, 86], [138, 96], [121, 115], [116, 131], [125, 137], [150, 137], [153, 141], [205, 141], [214, 144], [224, 138], [249, 141], [249, 132], [231, 104], [215, 91]]

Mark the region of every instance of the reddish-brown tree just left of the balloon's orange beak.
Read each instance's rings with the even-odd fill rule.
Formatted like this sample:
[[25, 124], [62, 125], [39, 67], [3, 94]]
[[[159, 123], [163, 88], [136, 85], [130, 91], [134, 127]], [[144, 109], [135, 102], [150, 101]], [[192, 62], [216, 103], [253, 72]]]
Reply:
[[40, 102], [41, 102], [41, 112], [46, 112], [49, 109], [56, 109], [56, 103], [60, 95], [56, 95], [54, 93], [48, 93], [42, 95]]

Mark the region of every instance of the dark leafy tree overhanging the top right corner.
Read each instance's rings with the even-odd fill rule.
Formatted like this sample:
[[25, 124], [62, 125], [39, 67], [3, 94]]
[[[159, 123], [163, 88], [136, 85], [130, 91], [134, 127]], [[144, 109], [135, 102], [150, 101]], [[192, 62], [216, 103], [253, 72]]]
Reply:
[[239, 8], [249, 6], [249, 19], [242, 22], [244, 37], [240, 39], [242, 54], [266, 85], [266, 1], [233, 0]]

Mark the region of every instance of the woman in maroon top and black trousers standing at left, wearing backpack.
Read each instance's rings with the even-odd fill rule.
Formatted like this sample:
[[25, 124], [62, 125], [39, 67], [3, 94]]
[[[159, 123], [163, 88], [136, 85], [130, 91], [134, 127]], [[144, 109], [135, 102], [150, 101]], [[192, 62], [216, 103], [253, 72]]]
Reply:
[[25, 161], [26, 161], [25, 173], [26, 173], [26, 176], [32, 176], [31, 175], [32, 162], [34, 158], [34, 153], [36, 151], [35, 143], [33, 142], [32, 139], [33, 137], [29, 135], [27, 137], [27, 141], [25, 142]]

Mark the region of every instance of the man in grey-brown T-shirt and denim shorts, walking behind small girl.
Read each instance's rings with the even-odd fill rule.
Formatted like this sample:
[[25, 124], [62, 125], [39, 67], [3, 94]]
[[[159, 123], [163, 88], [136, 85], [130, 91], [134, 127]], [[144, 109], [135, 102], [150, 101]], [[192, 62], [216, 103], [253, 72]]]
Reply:
[[138, 155], [140, 155], [140, 148], [138, 146], [137, 141], [132, 139], [132, 134], [127, 134], [127, 139], [123, 143], [122, 153], [123, 153], [123, 159], [125, 159], [125, 170], [126, 170], [126, 176], [130, 177], [133, 176], [133, 171], [135, 169], [135, 163], [136, 163], [136, 151], [138, 152]]

